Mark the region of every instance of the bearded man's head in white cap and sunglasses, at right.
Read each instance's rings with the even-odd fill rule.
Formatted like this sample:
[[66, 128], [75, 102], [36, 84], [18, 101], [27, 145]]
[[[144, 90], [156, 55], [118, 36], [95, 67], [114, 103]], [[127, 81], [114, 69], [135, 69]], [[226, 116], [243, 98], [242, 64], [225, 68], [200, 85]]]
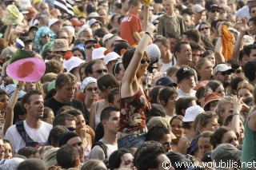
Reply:
[[218, 64], [214, 68], [214, 80], [220, 81], [225, 89], [230, 85], [231, 73], [234, 73], [234, 69], [231, 69], [230, 66], [226, 63]]

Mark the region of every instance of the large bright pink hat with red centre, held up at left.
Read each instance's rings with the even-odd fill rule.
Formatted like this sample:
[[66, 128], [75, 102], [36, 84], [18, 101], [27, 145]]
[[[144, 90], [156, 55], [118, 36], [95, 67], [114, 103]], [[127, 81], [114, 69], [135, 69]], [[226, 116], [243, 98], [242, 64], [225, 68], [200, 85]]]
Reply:
[[27, 57], [8, 65], [6, 74], [17, 81], [35, 82], [42, 78], [45, 71], [46, 64], [41, 58]]

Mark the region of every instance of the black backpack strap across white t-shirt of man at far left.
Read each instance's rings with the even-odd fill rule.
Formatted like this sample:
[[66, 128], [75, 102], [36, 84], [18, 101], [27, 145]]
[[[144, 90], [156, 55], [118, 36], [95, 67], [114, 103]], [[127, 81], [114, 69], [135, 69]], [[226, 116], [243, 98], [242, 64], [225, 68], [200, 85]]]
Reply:
[[23, 121], [17, 121], [16, 128], [18, 130], [18, 133], [22, 136], [22, 139], [25, 141], [26, 146], [35, 147], [36, 145], [38, 145], [38, 142], [32, 140], [30, 136], [26, 133]]

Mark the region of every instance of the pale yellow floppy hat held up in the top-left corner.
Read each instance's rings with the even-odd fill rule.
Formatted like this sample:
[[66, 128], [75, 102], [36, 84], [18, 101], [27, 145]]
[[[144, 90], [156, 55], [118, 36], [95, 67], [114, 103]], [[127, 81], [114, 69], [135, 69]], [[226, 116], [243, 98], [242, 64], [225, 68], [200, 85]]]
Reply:
[[18, 25], [24, 19], [22, 13], [19, 12], [18, 8], [14, 5], [9, 5], [6, 8], [6, 15], [2, 19], [6, 25]]

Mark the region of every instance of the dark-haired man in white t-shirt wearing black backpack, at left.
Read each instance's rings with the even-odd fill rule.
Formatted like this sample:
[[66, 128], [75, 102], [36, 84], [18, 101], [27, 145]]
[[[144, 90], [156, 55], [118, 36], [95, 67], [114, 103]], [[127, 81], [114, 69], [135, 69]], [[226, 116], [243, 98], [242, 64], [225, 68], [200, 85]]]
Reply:
[[53, 127], [40, 121], [44, 109], [42, 93], [38, 91], [26, 93], [22, 98], [22, 109], [26, 112], [26, 120], [10, 126], [5, 136], [5, 139], [10, 140], [14, 153], [25, 146], [34, 147], [38, 143], [46, 142]]

